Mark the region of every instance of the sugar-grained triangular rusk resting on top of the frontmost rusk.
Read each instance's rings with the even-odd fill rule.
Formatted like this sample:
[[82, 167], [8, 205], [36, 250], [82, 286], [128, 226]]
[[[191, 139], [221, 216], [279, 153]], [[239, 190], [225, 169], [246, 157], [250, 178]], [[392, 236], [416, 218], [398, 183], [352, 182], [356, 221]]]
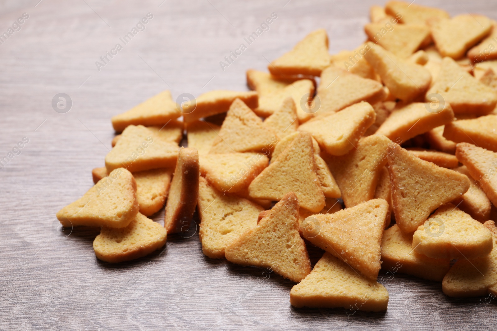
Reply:
[[387, 201], [373, 199], [333, 214], [307, 217], [304, 238], [370, 279], [381, 267], [381, 237], [390, 215]]

